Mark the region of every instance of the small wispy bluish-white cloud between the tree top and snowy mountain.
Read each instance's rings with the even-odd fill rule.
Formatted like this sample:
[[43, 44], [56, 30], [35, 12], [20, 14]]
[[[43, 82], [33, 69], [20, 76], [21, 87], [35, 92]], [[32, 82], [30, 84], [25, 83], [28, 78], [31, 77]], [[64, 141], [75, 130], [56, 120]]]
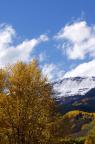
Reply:
[[49, 81], [56, 81], [62, 79], [64, 76], [64, 70], [61, 69], [59, 65], [56, 64], [45, 64], [42, 67], [42, 73], [44, 76], [48, 77]]

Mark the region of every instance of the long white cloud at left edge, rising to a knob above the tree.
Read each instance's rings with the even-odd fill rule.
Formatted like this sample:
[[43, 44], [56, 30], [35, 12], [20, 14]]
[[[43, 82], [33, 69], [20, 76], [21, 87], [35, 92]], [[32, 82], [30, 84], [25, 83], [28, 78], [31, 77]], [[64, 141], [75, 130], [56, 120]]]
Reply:
[[12, 26], [0, 26], [0, 66], [14, 63], [17, 60], [29, 61], [34, 48], [49, 39], [46, 35], [40, 35], [36, 39], [24, 40], [15, 46], [14, 37], [16, 37], [16, 32]]

